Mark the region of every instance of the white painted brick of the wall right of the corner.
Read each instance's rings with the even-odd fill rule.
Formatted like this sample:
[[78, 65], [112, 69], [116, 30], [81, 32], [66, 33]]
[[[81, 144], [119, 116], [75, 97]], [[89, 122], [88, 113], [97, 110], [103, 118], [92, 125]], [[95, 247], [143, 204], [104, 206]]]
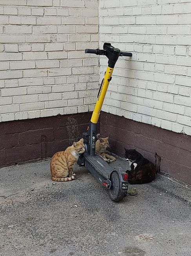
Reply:
[[191, 0], [100, 0], [99, 17], [100, 48], [133, 53], [116, 63], [103, 110], [191, 135]]

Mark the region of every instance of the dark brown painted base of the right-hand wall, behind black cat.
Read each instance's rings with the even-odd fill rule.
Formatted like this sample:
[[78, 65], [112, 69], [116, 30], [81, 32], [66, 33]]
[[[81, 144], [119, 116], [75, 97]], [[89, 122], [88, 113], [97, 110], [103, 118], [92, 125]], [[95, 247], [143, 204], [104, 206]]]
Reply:
[[124, 147], [135, 148], [155, 163], [161, 156], [161, 170], [191, 184], [191, 136], [102, 112], [100, 134], [108, 136], [112, 152], [124, 156]]

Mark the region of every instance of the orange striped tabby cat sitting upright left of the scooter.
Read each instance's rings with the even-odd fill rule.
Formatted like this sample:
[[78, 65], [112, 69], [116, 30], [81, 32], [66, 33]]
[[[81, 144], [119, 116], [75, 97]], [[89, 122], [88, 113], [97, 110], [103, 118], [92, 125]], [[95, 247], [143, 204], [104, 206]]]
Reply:
[[85, 152], [84, 139], [74, 142], [65, 151], [54, 154], [51, 159], [51, 176], [53, 181], [71, 181], [75, 179], [73, 165], [78, 161], [78, 156]]

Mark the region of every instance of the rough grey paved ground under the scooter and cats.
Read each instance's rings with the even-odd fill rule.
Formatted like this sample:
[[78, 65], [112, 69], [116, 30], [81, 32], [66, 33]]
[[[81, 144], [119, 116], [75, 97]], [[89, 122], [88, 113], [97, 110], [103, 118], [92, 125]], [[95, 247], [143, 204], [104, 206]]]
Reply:
[[0, 169], [1, 256], [191, 255], [188, 188], [158, 176], [115, 203], [85, 167], [52, 182], [49, 163]]

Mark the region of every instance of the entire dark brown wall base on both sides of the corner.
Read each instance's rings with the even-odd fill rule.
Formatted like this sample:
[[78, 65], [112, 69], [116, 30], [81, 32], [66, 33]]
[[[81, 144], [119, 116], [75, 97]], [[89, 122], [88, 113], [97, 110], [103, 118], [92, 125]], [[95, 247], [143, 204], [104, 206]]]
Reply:
[[[53, 156], [81, 137], [90, 118], [91, 113], [78, 113], [0, 123], [0, 166]], [[191, 184], [191, 136], [105, 112], [100, 128], [110, 137], [111, 151], [124, 156], [124, 147], [136, 148], [152, 162], [157, 153], [162, 171]]]

